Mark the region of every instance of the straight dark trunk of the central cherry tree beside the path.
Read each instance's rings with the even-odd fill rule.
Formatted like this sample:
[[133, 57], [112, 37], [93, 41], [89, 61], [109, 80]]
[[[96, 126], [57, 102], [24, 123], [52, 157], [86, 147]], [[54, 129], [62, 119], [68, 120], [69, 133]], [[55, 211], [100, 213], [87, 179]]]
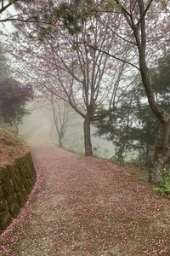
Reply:
[[92, 156], [92, 143], [90, 132], [90, 119], [87, 117], [83, 123], [85, 156]]

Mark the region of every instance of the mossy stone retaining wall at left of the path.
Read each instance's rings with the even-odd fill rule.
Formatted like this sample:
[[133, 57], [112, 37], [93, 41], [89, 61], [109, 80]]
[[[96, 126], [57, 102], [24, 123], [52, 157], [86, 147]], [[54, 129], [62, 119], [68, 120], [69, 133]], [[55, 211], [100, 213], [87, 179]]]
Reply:
[[30, 152], [12, 165], [0, 166], [0, 233], [25, 205], [36, 177]]

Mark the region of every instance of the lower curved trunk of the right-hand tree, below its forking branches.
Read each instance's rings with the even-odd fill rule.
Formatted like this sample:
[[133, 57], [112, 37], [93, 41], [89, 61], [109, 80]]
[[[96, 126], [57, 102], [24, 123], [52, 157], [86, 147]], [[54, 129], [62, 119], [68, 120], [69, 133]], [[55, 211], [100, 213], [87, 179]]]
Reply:
[[150, 73], [142, 54], [140, 54], [139, 61], [141, 78], [150, 104], [150, 109], [161, 123], [161, 131], [158, 131], [156, 135], [153, 156], [150, 157], [149, 165], [149, 182], [157, 183], [160, 177], [163, 176], [164, 167], [170, 158], [170, 115], [155, 101], [154, 93], [151, 88]]

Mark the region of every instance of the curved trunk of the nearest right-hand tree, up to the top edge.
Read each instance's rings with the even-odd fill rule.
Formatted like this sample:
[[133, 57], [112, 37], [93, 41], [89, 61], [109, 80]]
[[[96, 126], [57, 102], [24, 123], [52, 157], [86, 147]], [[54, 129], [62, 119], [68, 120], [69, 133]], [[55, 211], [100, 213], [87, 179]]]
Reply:
[[[145, 52], [147, 37], [145, 27], [146, 9], [144, 9], [144, 0], [137, 1], [137, 3], [139, 4], [140, 14], [139, 26], [134, 26], [133, 23], [131, 23], [130, 26], [133, 29], [133, 34], [139, 49], [139, 70], [144, 90], [150, 104], [150, 109], [161, 123], [161, 132], [157, 134], [154, 153], [150, 158], [149, 165], [149, 181], [156, 183], [158, 179], [163, 176], [164, 167], [170, 157], [170, 115], [156, 102], [154, 91], [152, 90], [150, 72], [146, 63]], [[152, 1], [148, 4], [148, 9], [150, 8], [151, 3]]]

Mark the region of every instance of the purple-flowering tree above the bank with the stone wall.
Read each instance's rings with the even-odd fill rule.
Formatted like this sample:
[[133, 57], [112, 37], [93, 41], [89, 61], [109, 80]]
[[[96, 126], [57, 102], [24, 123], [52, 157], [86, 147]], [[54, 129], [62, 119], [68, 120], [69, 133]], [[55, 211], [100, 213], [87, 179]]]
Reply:
[[32, 99], [31, 84], [24, 86], [14, 79], [4, 79], [0, 82], [0, 116], [4, 124], [18, 132], [23, 116], [29, 113], [26, 103]]

